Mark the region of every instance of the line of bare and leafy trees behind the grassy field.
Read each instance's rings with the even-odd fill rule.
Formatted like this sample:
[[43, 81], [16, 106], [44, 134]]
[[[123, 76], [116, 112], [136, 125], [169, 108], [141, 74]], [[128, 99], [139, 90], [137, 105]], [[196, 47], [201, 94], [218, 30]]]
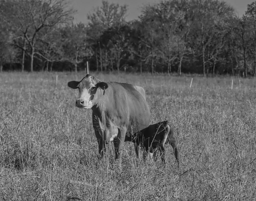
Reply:
[[239, 17], [219, 0], [128, 7], [102, 1], [73, 23], [65, 0], [0, 0], [0, 71], [96, 71], [256, 75], [256, 2]]

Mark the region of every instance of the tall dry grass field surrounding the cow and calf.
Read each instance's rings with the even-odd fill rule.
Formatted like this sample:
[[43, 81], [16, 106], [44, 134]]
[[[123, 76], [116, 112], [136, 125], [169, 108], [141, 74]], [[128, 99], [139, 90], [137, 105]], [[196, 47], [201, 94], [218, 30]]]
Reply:
[[151, 122], [176, 126], [180, 169], [170, 146], [166, 167], [137, 161], [132, 143], [121, 168], [112, 143], [100, 161], [92, 110], [76, 108], [67, 86], [83, 73], [5, 72], [0, 200], [255, 200], [254, 79], [193, 76], [189, 88], [192, 76], [92, 74], [144, 87]]

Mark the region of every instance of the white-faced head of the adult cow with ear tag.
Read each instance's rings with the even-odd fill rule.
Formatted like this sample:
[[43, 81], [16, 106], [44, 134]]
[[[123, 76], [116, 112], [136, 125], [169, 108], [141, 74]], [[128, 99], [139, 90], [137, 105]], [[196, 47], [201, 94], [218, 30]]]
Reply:
[[101, 82], [90, 74], [87, 74], [80, 82], [68, 82], [68, 86], [72, 89], [79, 89], [79, 98], [76, 100], [76, 106], [83, 109], [90, 109], [97, 104], [103, 90], [108, 88], [107, 83]]

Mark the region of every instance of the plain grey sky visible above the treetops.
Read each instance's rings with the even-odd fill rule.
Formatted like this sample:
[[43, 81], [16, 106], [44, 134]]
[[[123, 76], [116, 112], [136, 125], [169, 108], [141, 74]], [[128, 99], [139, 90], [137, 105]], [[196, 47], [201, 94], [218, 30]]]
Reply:
[[[242, 16], [246, 9], [247, 4], [254, 2], [255, 0], [224, 0], [229, 5], [231, 5], [238, 13]], [[157, 3], [160, 0], [108, 0], [110, 3], [118, 3], [119, 5], [128, 5], [128, 16], [127, 21], [137, 19], [141, 13], [141, 8], [143, 5], [148, 3]], [[71, 5], [77, 13], [74, 15], [74, 22], [79, 23], [87, 22], [87, 14], [93, 13], [93, 9], [102, 5], [102, 0], [71, 0]]]

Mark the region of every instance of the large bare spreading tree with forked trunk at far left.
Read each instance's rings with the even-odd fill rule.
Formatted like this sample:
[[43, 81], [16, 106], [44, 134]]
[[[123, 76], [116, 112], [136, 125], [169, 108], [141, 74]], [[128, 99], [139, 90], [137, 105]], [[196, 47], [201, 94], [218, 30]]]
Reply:
[[47, 27], [56, 27], [71, 21], [74, 11], [65, 0], [9, 0], [5, 7], [5, 15], [16, 35], [16, 45], [26, 51], [17, 42], [25, 38], [30, 47], [30, 71], [33, 71], [33, 61], [37, 45], [37, 36]]

